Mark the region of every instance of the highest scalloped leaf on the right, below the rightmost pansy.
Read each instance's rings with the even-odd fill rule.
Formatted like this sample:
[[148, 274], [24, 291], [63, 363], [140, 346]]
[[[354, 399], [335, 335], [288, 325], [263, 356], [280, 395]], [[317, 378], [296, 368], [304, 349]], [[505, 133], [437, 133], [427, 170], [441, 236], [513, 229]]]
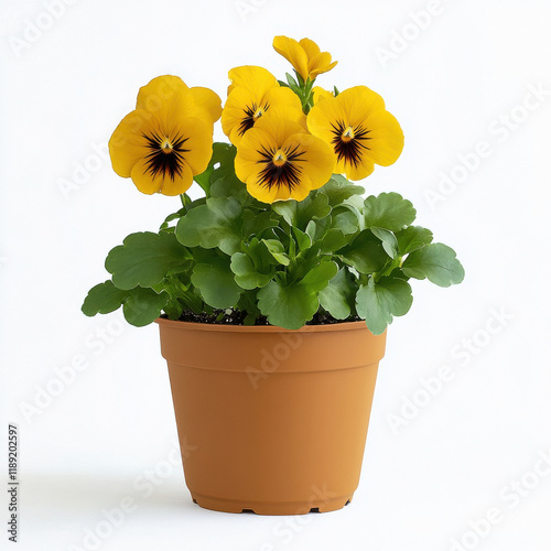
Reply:
[[378, 227], [399, 231], [415, 219], [415, 209], [398, 193], [370, 195], [364, 202], [366, 227]]

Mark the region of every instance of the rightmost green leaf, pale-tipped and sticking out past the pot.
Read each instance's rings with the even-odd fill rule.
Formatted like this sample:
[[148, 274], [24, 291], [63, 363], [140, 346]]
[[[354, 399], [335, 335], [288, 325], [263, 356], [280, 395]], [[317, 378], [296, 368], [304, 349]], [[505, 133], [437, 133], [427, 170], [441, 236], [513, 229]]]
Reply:
[[440, 287], [461, 283], [465, 270], [455, 258], [455, 251], [443, 244], [429, 244], [411, 252], [402, 264], [409, 278], [425, 279]]

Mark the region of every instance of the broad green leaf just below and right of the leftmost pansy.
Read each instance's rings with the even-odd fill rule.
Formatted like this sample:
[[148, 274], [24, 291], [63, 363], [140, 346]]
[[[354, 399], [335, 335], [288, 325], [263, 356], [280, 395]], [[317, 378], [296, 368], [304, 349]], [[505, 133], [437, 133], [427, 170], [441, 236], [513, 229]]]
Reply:
[[235, 197], [210, 197], [180, 219], [177, 240], [186, 247], [218, 247], [233, 255], [241, 245], [242, 206]]

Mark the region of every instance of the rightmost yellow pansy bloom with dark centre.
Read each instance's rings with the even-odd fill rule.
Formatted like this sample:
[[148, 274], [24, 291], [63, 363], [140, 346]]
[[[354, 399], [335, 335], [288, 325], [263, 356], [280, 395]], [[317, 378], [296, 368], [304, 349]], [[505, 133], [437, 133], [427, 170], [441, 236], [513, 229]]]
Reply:
[[355, 86], [312, 107], [309, 130], [333, 147], [335, 172], [361, 180], [375, 164], [388, 166], [403, 149], [403, 132], [385, 101], [366, 86]]

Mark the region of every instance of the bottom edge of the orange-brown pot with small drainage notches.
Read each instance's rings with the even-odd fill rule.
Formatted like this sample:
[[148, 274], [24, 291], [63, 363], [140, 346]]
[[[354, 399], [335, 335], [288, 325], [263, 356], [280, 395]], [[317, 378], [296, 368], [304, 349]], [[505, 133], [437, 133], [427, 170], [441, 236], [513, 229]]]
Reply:
[[203, 509], [220, 512], [255, 512], [257, 515], [306, 515], [309, 512], [329, 512], [342, 509], [352, 501], [349, 496], [332, 499], [310, 499], [307, 503], [269, 503], [219, 499], [192, 493], [193, 503]]

